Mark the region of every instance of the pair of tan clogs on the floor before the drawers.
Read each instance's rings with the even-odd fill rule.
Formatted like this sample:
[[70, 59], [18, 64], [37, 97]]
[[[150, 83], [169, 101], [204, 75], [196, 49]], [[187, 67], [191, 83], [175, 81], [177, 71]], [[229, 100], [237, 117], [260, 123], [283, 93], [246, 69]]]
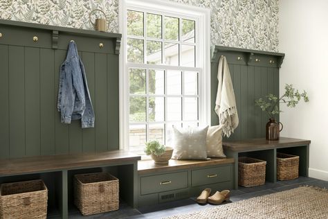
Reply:
[[204, 189], [201, 192], [201, 195], [197, 197], [197, 202], [199, 204], [206, 204], [206, 202], [210, 204], [221, 204], [224, 201], [230, 200], [230, 191], [224, 190], [224, 191], [217, 191], [214, 193], [214, 195], [210, 196], [211, 189]]

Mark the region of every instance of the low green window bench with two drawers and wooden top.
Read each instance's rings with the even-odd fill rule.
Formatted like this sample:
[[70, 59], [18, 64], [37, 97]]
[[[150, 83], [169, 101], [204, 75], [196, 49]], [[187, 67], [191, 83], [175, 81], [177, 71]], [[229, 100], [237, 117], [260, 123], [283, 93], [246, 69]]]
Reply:
[[190, 198], [203, 189], [233, 189], [235, 159], [138, 161], [138, 207]]

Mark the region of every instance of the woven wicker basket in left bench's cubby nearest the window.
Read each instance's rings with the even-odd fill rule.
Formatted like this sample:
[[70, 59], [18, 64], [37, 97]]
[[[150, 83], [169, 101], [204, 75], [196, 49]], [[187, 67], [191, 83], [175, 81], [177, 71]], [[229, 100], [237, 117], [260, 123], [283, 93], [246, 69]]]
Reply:
[[118, 210], [118, 178], [109, 173], [75, 175], [74, 204], [84, 216]]

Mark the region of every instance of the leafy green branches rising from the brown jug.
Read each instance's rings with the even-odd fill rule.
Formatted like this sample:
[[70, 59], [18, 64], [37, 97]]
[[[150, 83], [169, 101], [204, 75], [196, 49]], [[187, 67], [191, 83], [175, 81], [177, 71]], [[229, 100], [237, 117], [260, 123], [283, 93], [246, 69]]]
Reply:
[[285, 85], [284, 94], [278, 98], [273, 94], [268, 94], [266, 96], [266, 100], [259, 98], [255, 100], [255, 105], [259, 106], [262, 111], [266, 111], [270, 118], [274, 118], [275, 114], [279, 114], [282, 112], [279, 109], [280, 103], [286, 103], [287, 107], [295, 107], [300, 102], [301, 98], [303, 98], [304, 102], [309, 102], [309, 96], [307, 96], [307, 92], [303, 91], [302, 94], [293, 88], [293, 85]]

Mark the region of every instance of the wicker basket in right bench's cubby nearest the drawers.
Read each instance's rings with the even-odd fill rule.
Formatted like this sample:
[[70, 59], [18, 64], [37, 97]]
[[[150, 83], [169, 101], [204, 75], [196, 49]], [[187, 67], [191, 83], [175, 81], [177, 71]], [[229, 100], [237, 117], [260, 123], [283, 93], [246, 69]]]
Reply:
[[238, 159], [238, 184], [250, 187], [265, 184], [266, 161], [250, 157]]

